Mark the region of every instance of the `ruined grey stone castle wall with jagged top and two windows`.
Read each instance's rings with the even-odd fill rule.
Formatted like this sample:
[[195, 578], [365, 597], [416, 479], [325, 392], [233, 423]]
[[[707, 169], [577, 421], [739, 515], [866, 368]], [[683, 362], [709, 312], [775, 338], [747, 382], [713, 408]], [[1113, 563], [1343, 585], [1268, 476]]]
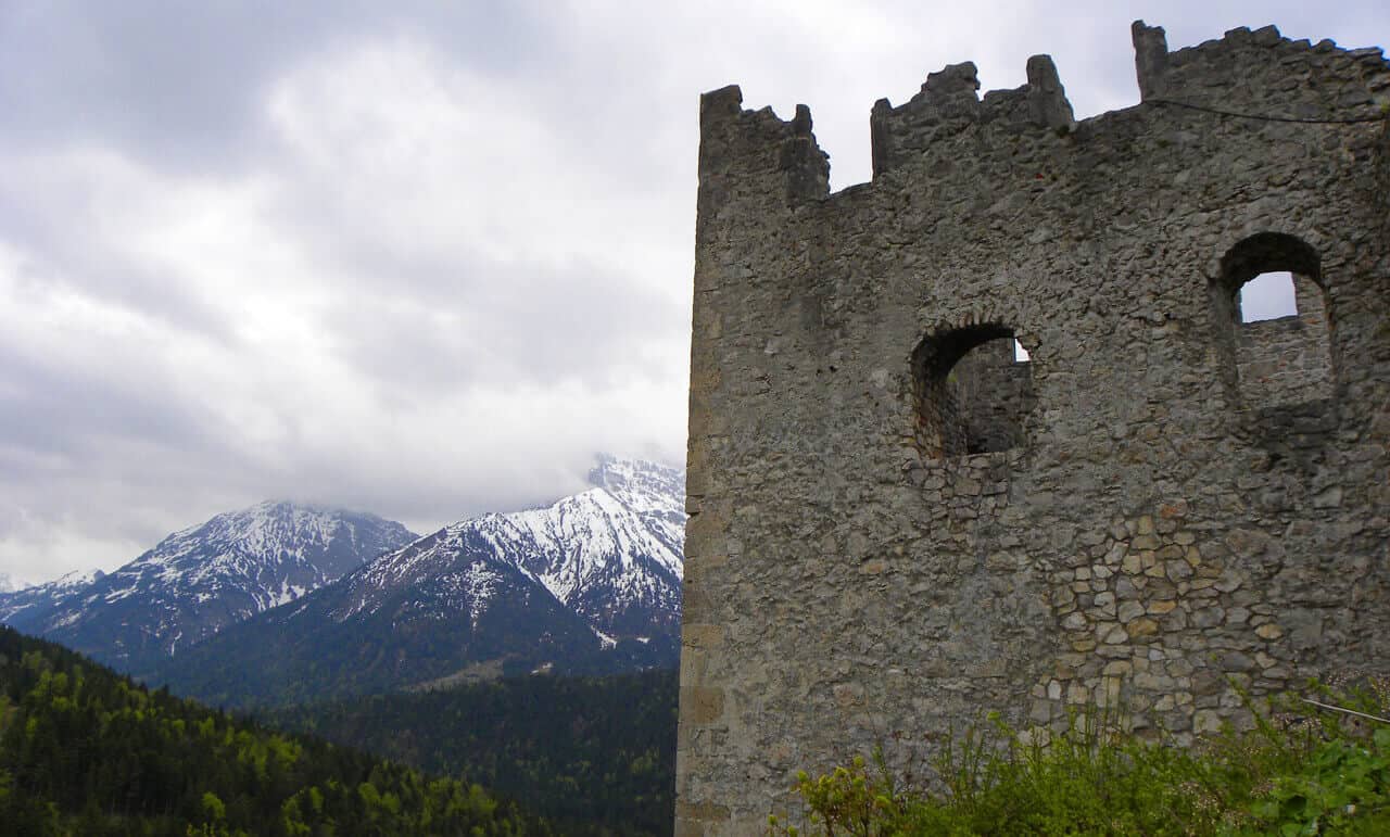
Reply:
[[805, 106], [703, 96], [678, 834], [986, 709], [1186, 742], [1390, 659], [1390, 64], [1133, 36], [1140, 104], [947, 67], [834, 195]]

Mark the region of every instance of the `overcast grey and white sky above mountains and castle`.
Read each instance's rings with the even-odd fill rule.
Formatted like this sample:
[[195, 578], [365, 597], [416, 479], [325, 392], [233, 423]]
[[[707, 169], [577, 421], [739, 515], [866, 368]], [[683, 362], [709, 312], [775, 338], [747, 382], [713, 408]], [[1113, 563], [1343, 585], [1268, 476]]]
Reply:
[[265, 498], [427, 531], [598, 450], [680, 463], [701, 92], [808, 103], [838, 189], [948, 63], [1136, 103], [1134, 18], [1390, 42], [1383, 0], [0, 0], [0, 573]]

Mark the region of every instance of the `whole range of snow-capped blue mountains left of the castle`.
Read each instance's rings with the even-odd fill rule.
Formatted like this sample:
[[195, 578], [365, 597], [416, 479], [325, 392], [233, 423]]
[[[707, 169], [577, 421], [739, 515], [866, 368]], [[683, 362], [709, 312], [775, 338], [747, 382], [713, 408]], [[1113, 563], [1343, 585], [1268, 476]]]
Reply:
[[424, 538], [261, 503], [110, 574], [0, 594], [0, 621], [222, 705], [674, 666], [682, 473], [605, 456], [589, 481]]

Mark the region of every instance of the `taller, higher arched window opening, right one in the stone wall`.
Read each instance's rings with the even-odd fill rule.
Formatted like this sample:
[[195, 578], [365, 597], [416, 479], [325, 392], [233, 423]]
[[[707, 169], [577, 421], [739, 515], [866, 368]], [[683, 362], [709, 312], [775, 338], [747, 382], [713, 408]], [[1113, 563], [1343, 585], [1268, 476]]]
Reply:
[[1241, 405], [1332, 396], [1332, 321], [1316, 250], [1277, 232], [1247, 238], [1222, 260], [1215, 302], [1218, 345]]

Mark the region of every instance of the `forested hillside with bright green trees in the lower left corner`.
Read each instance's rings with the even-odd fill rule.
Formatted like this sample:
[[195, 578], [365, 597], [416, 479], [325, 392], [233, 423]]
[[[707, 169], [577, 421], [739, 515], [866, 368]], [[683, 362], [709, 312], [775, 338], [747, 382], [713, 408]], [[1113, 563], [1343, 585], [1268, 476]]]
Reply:
[[0, 834], [548, 834], [478, 786], [152, 692], [0, 628]]

